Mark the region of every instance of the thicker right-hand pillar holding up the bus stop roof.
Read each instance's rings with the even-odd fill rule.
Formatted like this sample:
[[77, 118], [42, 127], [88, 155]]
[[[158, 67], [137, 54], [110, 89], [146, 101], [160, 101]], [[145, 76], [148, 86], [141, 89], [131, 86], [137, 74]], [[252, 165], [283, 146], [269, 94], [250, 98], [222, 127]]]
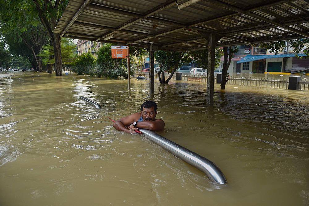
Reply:
[[208, 65], [207, 65], [207, 104], [214, 104], [214, 66], [215, 66], [215, 49], [216, 34], [210, 33], [208, 37]]

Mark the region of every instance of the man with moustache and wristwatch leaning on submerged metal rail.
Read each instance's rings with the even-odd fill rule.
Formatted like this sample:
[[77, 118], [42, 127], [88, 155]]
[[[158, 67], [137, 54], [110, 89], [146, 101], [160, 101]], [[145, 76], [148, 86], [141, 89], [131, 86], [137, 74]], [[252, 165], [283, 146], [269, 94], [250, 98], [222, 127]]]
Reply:
[[[146, 101], [141, 106], [141, 112], [131, 114], [117, 120], [113, 126], [117, 130], [135, 133], [138, 128], [149, 129], [151, 131], [161, 131], [164, 129], [164, 121], [156, 119], [157, 104], [153, 101]], [[126, 127], [128, 126], [128, 127]]]

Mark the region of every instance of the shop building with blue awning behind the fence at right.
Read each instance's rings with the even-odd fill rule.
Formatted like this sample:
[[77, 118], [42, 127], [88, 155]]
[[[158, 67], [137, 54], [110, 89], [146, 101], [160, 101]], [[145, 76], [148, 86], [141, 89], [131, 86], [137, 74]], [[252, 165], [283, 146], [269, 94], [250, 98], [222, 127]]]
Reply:
[[[228, 69], [229, 73], [290, 74], [292, 72], [293, 74], [309, 69], [309, 59], [297, 57], [306, 55], [303, 53], [296, 55], [293, 52], [294, 48], [289, 47], [288, 41], [285, 49], [278, 54], [251, 45], [242, 45], [238, 48], [239, 51], [235, 53]], [[221, 64], [223, 65], [223, 62]]]

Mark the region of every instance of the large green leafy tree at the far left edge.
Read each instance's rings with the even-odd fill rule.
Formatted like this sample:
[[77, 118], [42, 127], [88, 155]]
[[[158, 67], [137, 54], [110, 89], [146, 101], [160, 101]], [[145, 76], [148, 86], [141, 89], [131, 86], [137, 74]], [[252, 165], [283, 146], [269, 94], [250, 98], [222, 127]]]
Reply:
[[[48, 37], [39, 19], [31, 10], [29, 2], [0, 0], [0, 5], [0, 30], [10, 50], [24, 56], [20, 50], [27, 47], [33, 56], [31, 58], [33, 68], [42, 71], [42, 61], [37, 54], [48, 41]], [[22, 44], [24, 45], [19, 47]]]

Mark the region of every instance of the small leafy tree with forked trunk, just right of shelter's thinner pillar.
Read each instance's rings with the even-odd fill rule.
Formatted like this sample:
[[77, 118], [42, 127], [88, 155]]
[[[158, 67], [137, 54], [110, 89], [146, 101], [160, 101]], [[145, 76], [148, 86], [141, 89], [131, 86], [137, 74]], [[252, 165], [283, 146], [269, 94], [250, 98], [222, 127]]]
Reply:
[[[157, 51], [154, 55], [160, 65], [158, 72], [160, 84], [167, 84], [171, 80], [179, 64], [187, 64], [190, 61], [188, 53], [184, 52]], [[165, 80], [165, 71], [171, 73], [167, 80]]]

